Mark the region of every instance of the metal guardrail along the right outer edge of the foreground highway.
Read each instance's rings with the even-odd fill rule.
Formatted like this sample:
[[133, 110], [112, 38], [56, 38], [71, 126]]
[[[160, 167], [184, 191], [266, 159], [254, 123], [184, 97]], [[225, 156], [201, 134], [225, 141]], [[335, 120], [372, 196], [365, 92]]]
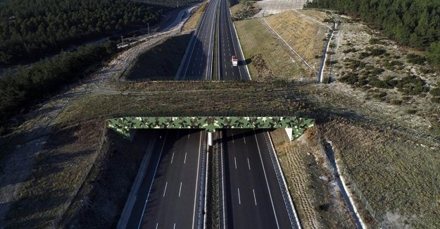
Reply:
[[282, 168], [279, 165], [277, 156], [275, 155], [275, 148], [273, 147], [272, 139], [270, 139], [270, 136], [268, 135], [268, 132], [263, 133], [264, 140], [266, 142], [266, 145], [268, 146], [270, 161], [272, 161], [272, 165], [275, 168], [275, 175], [277, 175], [278, 185], [281, 190], [282, 199], [284, 200], [284, 204], [286, 205], [287, 214], [289, 215], [291, 226], [292, 228], [301, 229], [301, 222], [299, 221], [298, 214], [296, 213], [294, 202], [291, 199], [289, 188], [287, 187], [286, 183], [286, 178], [284, 178]]

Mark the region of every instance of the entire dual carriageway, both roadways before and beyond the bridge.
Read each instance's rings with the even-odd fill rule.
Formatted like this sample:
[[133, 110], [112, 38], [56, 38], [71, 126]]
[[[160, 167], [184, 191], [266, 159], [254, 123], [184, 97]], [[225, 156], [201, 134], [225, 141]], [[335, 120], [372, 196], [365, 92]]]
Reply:
[[[209, 1], [177, 79], [251, 80], [227, 1]], [[218, 211], [220, 228], [297, 228], [270, 159], [268, 132], [230, 129], [219, 135], [219, 208], [212, 211]], [[150, 138], [151, 158], [123, 228], [205, 228], [206, 132], [157, 130]]]

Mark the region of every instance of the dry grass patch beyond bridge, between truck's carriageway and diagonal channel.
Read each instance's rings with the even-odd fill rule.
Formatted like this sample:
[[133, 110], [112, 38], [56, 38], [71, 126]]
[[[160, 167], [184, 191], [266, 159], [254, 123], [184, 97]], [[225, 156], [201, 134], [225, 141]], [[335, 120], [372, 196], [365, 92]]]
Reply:
[[[288, 47], [277, 39], [260, 19], [241, 20], [235, 22], [237, 35], [246, 59], [261, 54], [273, 78], [300, 79], [306, 75], [302, 66], [298, 66], [298, 58]], [[251, 63], [249, 71], [253, 80], [265, 80], [260, 76], [256, 66]]]

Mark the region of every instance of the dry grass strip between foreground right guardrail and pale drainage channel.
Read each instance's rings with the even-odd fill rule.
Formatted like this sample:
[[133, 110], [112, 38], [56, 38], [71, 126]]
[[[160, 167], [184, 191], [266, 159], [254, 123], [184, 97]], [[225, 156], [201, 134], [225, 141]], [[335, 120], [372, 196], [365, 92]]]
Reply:
[[326, 168], [315, 128], [289, 142], [284, 130], [271, 134], [289, 190], [304, 228], [354, 228], [351, 213]]

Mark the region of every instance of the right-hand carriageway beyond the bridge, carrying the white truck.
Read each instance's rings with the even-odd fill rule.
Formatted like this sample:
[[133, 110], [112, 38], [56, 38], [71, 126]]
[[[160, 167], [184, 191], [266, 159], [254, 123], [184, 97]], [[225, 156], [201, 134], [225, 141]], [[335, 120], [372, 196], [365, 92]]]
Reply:
[[[228, 0], [220, 0], [218, 17], [218, 75], [219, 80], [250, 80], [246, 61], [241, 53], [237, 33], [232, 25]], [[239, 66], [232, 66], [232, 56], [237, 56]]]

